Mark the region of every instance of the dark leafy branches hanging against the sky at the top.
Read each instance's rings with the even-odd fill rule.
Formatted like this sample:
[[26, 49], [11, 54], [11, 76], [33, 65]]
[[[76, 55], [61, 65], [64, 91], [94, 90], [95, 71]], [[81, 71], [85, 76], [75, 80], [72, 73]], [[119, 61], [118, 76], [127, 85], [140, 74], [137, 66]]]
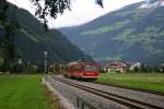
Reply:
[[[56, 19], [65, 10], [71, 10], [71, 0], [31, 0], [36, 7], [35, 15], [44, 23], [47, 28], [47, 16]], [[44, 1], [44, 5], [42, 7]], [[103, 0], [95, 0], [95, 3], [103, 8]]]

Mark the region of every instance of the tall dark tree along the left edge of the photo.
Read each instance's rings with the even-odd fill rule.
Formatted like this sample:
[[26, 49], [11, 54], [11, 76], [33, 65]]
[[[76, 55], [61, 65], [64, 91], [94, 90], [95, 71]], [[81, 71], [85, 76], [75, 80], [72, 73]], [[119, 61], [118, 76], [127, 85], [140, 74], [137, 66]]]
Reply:
[[0, 37], [0, 47], [2, 49], [3, 58], [2, 68], [4, 72], [12, 71], [13, 61], [15, 58], [14, 36], [20, 28], [16, 20], [8, 20], [8, 8], [9, 3], [7, 0], [0, 0], [0, 25], [2, 25], [2, 28], [5, 31], [5, 34]]

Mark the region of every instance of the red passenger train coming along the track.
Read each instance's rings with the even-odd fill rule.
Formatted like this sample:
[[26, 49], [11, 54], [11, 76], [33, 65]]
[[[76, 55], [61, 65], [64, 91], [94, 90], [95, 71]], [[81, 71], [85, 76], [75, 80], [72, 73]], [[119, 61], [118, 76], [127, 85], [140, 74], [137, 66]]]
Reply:
[[98, 64], [93, 61], [74, 61], [66, 65], [63, 75], [74, 78], [97, 78]]

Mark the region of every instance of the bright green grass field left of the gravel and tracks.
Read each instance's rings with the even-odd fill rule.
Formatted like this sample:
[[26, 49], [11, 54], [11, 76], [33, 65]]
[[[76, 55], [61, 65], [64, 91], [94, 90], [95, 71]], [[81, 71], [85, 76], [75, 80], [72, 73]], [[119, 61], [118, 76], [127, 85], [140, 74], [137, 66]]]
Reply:
[[54, 109], [42, 75], [0, 75], [0, 109]]

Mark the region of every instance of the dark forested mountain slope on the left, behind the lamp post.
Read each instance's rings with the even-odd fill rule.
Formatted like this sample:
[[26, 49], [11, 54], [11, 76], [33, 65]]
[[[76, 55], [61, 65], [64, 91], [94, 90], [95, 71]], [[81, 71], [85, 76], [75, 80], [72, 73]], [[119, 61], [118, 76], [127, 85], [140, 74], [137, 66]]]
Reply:
[[[44, 25], [26, 10], [10, 4], [7, 13], [9, 21], [19, 21], [21, 28], [15, 36], [15, 48], [23, 60], [38, 63], [44, 60], [44, 51], [48, 51], [48, 62], [69, 62], [86, 58], [61, 32], [46, 32]], [[2, 35], [4, 29], [0, 25], [0, 36]]]

